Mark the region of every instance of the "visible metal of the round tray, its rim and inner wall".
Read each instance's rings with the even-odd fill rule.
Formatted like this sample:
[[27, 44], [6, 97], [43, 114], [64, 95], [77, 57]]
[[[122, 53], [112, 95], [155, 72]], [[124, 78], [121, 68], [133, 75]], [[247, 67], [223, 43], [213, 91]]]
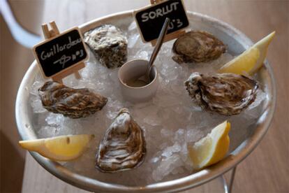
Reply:
[[[220, 20], [216, 20], [207, 15], [191, 12], [188, 12], [188, 19], [190, 22], [198, 22], [205, 30], [208, 29], [222, 40], [225, 40], [225, 44], [228, 45], [228, 50], [232, 54], [237, 55], [252, 45], [252, 41], [242, 34], [242, 32], [224, 22], [221, 22]], [[80, 26], [80, 30], [83, 33], [84, 31], [93, 29], [94, 27], [103, 23], [109, 22], [117, 24], [124, 20], [133, 21], [133, 12], [127, 11], [101, 17], [97, 20], [82, 24]], [[35, 76], [38, 73], [40, 73], [40, 70], [38, 69], [36, 61], [34, 61], [25, 74], [17, 93], [15, 115], [18, 131], [20, 132], [23, 140], [37, 138], [34, 128], [31, 126], [31, 117], [33, 112], [29, 103], [29, 90], [31, 85], [34, 83]], [[231, 152], [228, 157], [223, 159], [221, 162], [218, 162], [218, 164], [214, 164], [213, 166], [203, 169], [202, 171], [198, 171], [197, 173], [193, 173], [190, 176], [146, 186], [129, 187], [124, 185], [103, 183], [97, 179], [88, 178], [86, 176], [74, 173], [73, 171], [66, 169], [64, 166], [61, 166], [61, 164], [52, 162], [49, 159], [38, 155], [36, 152], [31, 152], [31, 155], [41, 166], [43, 166], [54, 176], [57, 176], [57, 178], [60, 178], [61, 180], [84, 190], [94, 192], [173, 192], [202, 185], [209, 180], [221, 176], [223, 173], [239, 164], [239, 162], [242, 162], [242, 160], [253, 151], [258, 143], [260, 143], [263, 136], [265, 136], [272, 120], [276, 104], [276, 86], [274, 83], [274, 76], [272, 68], [267, 61], [265, 61], [265, 65], [258, 72], [258, 77], [260, 77], [260, 82], [264, 86], [266, 99], [262, 104], [262, 115], [258, 118], [257, 122], [255, 122], [255, 125], [253, 126], [254, 131], [252, 132], [251, 136], [246, 138], [246, 140], [244, 140], [239, 147]]]

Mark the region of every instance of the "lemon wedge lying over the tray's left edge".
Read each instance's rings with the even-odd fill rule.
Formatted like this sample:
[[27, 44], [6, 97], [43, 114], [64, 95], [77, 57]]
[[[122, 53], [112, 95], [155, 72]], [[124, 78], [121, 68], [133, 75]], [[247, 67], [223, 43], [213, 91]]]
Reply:
[[80, 157], [94, 135], [68, 135], [19, 141], [22, 148], [38, 152], [54, 161], [69, 161]]

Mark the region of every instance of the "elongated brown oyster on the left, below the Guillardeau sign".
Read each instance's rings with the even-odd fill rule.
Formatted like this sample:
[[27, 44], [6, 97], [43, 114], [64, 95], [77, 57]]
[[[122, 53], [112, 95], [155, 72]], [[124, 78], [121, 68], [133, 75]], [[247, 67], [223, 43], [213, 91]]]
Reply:
[[108, 99], [86, 88], [73, 89], [57, 82], [46, 82], [38, 94], [43, 107], [73, 119], [87, 117], [101, 110]]

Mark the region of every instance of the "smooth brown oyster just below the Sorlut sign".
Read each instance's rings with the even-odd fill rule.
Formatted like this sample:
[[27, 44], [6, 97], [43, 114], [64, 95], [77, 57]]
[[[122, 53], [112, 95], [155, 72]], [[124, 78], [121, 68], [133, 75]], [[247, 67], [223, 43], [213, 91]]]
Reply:
[[225, 45], [205, 31], [189, 31], [180, 36], [172, 46], [175, 62], [209, 62], [225, 52]]

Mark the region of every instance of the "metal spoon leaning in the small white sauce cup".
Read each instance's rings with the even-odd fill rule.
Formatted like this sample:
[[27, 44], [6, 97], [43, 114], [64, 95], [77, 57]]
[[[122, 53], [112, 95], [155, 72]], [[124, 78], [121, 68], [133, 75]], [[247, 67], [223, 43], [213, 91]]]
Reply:
[[135, 82], [144, 82], [146, 84], [149, 84], [151, 82], [151, 78], [149, 77], [149, 74], [151, 72], [151, 67], [154, 64], [154, 60], [156, 59], [156, 56], [158, 55], [158, 51], [161, 50], [161, 45], [163, 45], [163, 39], [165, 38], [165, 34], [167, 34], [168, 31], [168, 24], [170, 23], [170, 18], [165, 18], [165, 22], [163, 23], [163, 27], [161, 29], [161, 33], [158, 36], [158, 40], [156, 41], [156, 46], [154, 47], [154, 51], [151, 53], [151, 58], [149, 59], [149, 64], [147, 65], [147, 71], [146, 73], [135, 80]]

